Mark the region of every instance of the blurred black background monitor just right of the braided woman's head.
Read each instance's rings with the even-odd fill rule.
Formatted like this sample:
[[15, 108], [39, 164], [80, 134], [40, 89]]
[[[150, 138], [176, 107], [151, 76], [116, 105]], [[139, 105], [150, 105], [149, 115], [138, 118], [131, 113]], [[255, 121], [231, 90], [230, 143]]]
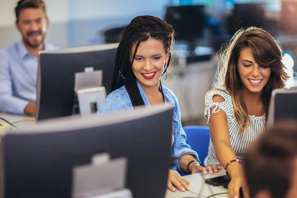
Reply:
[[168, 6], [165, 21], [175, 30], [176, 40], [186, 40], [190, 50], [195, 49], [196, 39], [203, 37], [206, 26], [204, 5]]

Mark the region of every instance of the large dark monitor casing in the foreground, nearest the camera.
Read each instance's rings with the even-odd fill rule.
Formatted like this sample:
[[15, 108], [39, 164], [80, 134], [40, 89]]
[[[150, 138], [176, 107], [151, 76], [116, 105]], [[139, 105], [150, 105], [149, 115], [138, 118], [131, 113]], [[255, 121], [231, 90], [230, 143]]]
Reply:
[[101, 152], [128, 159], [126, 188], [133, 198], [164, 198], [172, 116], [172, 105], [163, 104], [10, 131], [1, 139], [1, 198], [71, 198], [73, 167]]

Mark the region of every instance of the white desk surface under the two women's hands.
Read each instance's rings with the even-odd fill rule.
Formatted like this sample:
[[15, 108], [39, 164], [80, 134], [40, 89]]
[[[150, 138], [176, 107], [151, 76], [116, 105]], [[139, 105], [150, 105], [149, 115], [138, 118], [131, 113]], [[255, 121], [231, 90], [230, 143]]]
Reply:
[[[206, 198], [210, 195], [217, 194], [217, 193], [228, 193], [228, 190], [225, 189], [222, 186], [211, 186], [208, 184], [205, 184], [205, 179], [213, 178], [213, 177], [219, 177], [222, 175], [225, 175], [224, 170], [219, 170], [218, 173], [215, 173], [213, 175], [203, 175], [202, 173], [197, 173], [194, 175], [186, 175], [184, 178], [190, 182], [190, 191], [176, 191], [171, 192], [167, 189], [165, 198]], [[200, 196], [198, 196], [200, 195]], [[211, 198], [229, 198], [228, 194], [224, 195], [218, 195]]]

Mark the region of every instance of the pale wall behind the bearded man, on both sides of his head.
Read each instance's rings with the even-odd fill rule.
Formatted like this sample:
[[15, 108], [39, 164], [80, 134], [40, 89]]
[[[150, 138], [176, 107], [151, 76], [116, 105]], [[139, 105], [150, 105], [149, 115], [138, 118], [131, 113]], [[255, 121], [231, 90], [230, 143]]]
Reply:
[[[170, 0], [45, 0], [50, 20], [47, 41], [58, 47], [89, 45], [107, 27], [137, 15], [162, 17]], [[20, 40], [14, 28], [17, 0], [0, 0], [0, 49]]]

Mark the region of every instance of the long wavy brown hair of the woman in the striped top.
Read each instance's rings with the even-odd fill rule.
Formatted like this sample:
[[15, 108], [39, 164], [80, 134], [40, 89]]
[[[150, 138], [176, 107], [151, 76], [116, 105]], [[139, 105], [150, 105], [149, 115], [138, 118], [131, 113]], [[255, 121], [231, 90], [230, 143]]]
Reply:
[[238, 73], [238, 58], [240, 51], [250, 48], [258, 65], [269, 66], [271, 74], [261, 93], [261, 99], [265, 105], [266, 115], [271, 92], [277, 88], [285, 88], [289, 76], [285, 72], [282, 63], [282, 49], [273, 37], [263, 29], [249, 27], [240, 29], [230, 40], [229, 44], [220, 50], [221, 60], [215, 77], [213, 88], [225, 88], [231, 95], [237, 124], [240, 127], [238, 135], [243, 136], [248, 131], [249, 118], [247, 106], [243, 101], [244, 84]]

